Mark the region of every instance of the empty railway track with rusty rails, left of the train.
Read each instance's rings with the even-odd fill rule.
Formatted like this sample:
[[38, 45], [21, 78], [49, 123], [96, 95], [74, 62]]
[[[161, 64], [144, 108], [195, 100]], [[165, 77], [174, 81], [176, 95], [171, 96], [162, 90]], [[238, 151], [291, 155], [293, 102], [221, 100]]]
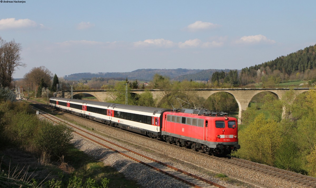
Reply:
[[68, 122], [62, 121], [60, 119], [57, 119], [56, 117], [52, 116], [51, 114], [48, 114], [44, 111], [41, 111], [40, 109], [36, 109], [40, 111], [40, 115], [44, 116], [45, 118], [48, 118], [55, 123], [65, 123], [72, 127], [74, 132], [78, 135], [81, 135], [82, 137], [91, 140], [103, 147], [106, 147], [108, 149], [111, 149], [112, 151], [118, 152], [121, 155], [124, 155], [125, 157], [131, 158], [138, 163], [141, 163], [149, 168], [155, 169], [158, 172], [161, 172], [163, 174], [166, 174], [176, 180], [182, 181], [188, 185], [191, 185], [193, 187], [197, 188], [208, 188], [208, 187], [220, 187], [220, 188], [226, 188], [222, 185], [216, 184], [215, 182], [212, 182], [210, 180], [206, 180], [204, 178], [201, 178], [199, 176], [196, 176], [194, 174], [188, 173], [184, 170], [178, 169], [176, 167], [173, 167], [171, 165], [168, 165], [166, 163], [162, 163], [158, 160], [155, 160], [153, 158], [149, 158], [145, 155], [142, 155], [140, 153], [134, 152], [128, 148], [119, 146], [111, 141], [105, 140], [104, 138], [101, 138], [97, 135], [91, 134], [88, 131], [82, 130], [78, 128], [77, 126], [74, 126], [72, 124], [69, 124]]

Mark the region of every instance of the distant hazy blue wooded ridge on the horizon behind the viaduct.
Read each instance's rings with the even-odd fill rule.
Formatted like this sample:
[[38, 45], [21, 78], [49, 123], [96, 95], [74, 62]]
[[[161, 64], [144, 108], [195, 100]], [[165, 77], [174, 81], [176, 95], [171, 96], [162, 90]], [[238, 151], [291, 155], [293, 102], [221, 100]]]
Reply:
[[[201, 69], [137, 69], [132, 72], [106, 72], [106, 73], [76, 73], [71, 74], [68, 76], [64, 76], [64, 79], [66, 80], [91, 80], [91, 78], [109, 78], [109, 79], [115, 79], [115, 80], [125, 80], [125, 78], [128, 78], [129, 80], [140, 80], [140, 81], [150, 81], [152, 80], [153, 76], [155, 74], [159, 74], [162, 76], [167, 76], [170, 79], [173, 79], [175, 77], [181, 76], [181, 75], [193, 75], [196, 73], [199, 73]], [[210, 75], [209, 75], [210, 76]], [[190, 80], [190, 79], [189, 79]], [[193, 80], [193, 79], [192, 79]]]

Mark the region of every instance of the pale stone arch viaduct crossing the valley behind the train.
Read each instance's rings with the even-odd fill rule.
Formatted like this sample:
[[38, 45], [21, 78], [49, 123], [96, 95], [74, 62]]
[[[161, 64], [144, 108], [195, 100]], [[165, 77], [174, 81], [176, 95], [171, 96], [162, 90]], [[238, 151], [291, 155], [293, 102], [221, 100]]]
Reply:
[[[292, 88], [294, 91], [295, 98], [305, 92], [309, 91], [310, 88]], [[238, 103], [239, 113], [238, 113], [238, 123], [241, 123], [241, 115], [244, 110], [247, 109], [249, 103], [251, 102], [252, 97], [256, 94], [269, 91], [276, 95], [279, 99], [282, 99], [283, 95], [286, 91], [289, 91], [290, 88], [224, 88], [224, 89], [192, 89], [192, 91], [196, 91], [197, 97], [203, 97], [207, 99], [211, 95], [217, 92], [227, 92], [230, 93]], [[159, 89], [151, 89], [149, 90], [153, 97], [158, 101], [162, 99], [163, 90]], [[141, 94], [145, 92], [143, 89], [134, 89], [131, 90], [133, 93]], [[109, 97], [109, 92], [106, 90], [74, 90], [73, 95], [79, 93], [88, 93], [96, 97], [99, 101], [105, 101]], [[57, 91], [57, 97], [71, 98], [71, 93], [69, 91]]]

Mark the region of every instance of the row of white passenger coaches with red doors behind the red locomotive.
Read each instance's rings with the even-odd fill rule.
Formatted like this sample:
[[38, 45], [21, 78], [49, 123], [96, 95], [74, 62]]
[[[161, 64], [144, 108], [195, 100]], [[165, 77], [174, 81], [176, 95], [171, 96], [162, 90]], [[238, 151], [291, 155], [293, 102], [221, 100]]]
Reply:
[[109, 102], [50, 98], [50, 106], [67, 113], [99, 121], [114, 127], [160, 138], [162, 114], [170, 109], [133, 106]]

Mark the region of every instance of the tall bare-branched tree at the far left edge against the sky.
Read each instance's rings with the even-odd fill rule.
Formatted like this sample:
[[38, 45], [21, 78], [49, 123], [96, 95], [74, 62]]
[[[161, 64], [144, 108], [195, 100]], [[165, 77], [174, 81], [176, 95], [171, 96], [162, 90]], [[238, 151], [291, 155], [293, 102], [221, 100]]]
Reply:
[[16, 43], [15, 40], [6, 42], [0, 37], [0, 84], [2, 87], [10, 86], [12, 74], [16, 68], [26, 66], [21, 63], [21, 50], [20, 43]]

